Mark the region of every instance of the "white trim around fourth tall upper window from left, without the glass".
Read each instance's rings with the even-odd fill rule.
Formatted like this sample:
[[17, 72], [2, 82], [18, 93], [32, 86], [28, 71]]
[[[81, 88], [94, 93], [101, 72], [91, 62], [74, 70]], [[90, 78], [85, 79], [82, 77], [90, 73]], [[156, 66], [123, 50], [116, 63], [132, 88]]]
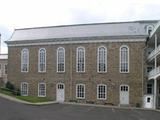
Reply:
[[[84, 49], [84, 71], [78, 71], [78, 49], [79, 48]], [[85, 72], [85, 68], [86, 68], [86, 50], [85, 50], [84, 47], [80, 46], [80, 47], [77, 47], [77, 49], [76, 49], [76, 72], [84, 73]]]

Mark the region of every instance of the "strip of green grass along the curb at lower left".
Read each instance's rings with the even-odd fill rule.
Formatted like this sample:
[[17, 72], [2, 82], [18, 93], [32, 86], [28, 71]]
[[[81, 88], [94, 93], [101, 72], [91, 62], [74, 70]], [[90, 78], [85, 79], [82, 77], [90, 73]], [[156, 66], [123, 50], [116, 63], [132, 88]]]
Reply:
[[46, 97], [17, 96], [17, 95], [14, 95], [12, 93], [12, 91], [10, 91], [9, 89], [6, 89], [6, 88], [1, 88], [0, 89], [0, 93], [5, 94], [5, 95], [9, 95], [9, 96], [12, 96], [12, 97], [15, 97], [15, 98], [20, 99], [20, 100], [31, 102], [31, 103], [39, 103], [39, 102], [49, 102], [49, 101], [52, 101], [51, 99], [46, 98]]

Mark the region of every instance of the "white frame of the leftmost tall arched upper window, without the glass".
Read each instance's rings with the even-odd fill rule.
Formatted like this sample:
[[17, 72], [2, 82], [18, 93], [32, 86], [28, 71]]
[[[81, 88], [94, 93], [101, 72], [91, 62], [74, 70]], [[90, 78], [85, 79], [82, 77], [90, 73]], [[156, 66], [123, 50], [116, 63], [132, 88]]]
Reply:
[[[27, 63], [24, 63], [24, 59], [23, 59], [23, 52], [26, 51], [27, 53]], [[27, 71], [23, 70], [23, 65], [26, 64], [27, 65]], [[21, 50], [21, 72], [28, 72], [29, 71], [29, 50], [27, 48], [24, 48]]]

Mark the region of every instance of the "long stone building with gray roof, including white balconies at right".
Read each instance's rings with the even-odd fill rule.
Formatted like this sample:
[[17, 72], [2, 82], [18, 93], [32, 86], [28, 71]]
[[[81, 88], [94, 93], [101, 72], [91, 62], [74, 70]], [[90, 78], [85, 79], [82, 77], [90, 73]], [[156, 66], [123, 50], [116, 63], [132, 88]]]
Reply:
[[6, 41], [8, 80], [23, 96], [156, 108], [158, 25], [150, 20], [16, 29]]

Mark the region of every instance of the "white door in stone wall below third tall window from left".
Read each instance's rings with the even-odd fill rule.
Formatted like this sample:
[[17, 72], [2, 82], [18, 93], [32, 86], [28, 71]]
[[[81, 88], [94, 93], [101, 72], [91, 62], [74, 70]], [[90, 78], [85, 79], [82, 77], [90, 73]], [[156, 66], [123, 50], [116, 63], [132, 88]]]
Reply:
[[57, 84], [57, 101], [58, 102], [64, 102], [65, 96], [64, 96], [64, 84], [63, 83], [58, 83]]

